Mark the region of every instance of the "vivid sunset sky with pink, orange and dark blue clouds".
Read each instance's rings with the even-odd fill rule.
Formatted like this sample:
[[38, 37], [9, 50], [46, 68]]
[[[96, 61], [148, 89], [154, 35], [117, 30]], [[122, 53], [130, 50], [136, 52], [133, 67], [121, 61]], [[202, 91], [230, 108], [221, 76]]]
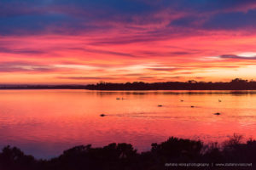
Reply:
[[0, 83], [256, 79], [253, 0], [1, 0]]

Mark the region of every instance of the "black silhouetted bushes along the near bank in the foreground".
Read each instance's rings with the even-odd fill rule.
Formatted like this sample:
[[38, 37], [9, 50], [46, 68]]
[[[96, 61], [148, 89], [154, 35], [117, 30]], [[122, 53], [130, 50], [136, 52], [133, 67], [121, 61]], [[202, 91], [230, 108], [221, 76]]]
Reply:
[[[164, 170], [164, 169], [256, 169], [256, 141], [233, 138], [219, 146], [201, 141], [170, 138], [138, 153], [131, 144], [108, 144], [102, 148], [80, 145], [50, 160], [37, 160], [20, 149], [7, 146], [0, 153], [2, 170]], [[210, 167], [168, 167], [168, 163], [209, 163]], [[213, 163], [213, 167], [212, 167]], [[252, 163], [252, 167], [217, 167], [214, 163]], [[167, 165], [167, 166], [166, 166]]]

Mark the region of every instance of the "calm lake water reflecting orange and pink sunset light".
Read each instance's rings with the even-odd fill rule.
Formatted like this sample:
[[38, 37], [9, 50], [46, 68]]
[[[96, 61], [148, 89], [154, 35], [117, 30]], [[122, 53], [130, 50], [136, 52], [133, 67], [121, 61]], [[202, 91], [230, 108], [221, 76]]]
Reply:
[[255, 130], [255, 91], [0, 91], [0, 147], [17, 146], [38, 158], [78, 144], [125, 142], [143, 151], [170, 136], [221, 142], [239, 133], [256, 139]]

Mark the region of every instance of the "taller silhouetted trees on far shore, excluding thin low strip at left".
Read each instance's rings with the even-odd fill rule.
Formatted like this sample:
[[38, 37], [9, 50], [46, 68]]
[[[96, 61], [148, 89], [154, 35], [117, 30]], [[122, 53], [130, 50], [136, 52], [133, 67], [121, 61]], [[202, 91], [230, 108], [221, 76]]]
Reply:
[[100, 82], [96, 85], [87, 85], [92, 90], [253, 90], [256, 82], [236, 78], [231, 82]]

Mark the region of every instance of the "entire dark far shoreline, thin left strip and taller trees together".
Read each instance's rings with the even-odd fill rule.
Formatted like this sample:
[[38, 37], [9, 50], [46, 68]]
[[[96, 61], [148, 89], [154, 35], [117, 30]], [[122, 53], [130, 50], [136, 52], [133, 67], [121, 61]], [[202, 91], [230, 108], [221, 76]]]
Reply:
[[256, 90], [256, 82], [236, 78], [231, 82], [100, 82], [89, 85], [0, 85], [0, 89], [89, 90]]

